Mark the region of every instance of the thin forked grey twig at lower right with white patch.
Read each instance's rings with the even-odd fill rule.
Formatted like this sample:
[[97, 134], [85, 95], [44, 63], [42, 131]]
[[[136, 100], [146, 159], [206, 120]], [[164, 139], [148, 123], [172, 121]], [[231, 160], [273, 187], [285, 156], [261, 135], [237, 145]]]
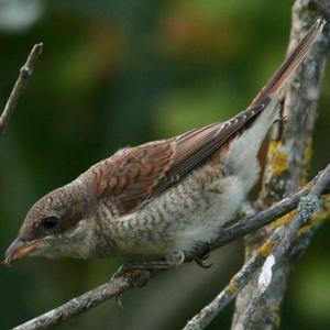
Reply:
[[[271, 238], [266, 241], [266, 243], [264, 243], [264, 245], [258, 249], [257, 253], [243, 265], [243, 267], [237, 275], [232, 277], [229, 285], [186, 324], [186, 327], [184, 328], [185, 330], [205, 329], [219, 315], [219, 312], [230, 301], [232, 301], [232, 299], [241, 292], [241, 289], [244, 288], [244, 286], [250, 282], [253, 275], [260, 270], [263, 262], [265, 262], [262, 274], [260, 275], [260, 278], [263, 278], [263, 280], [258, 282], [260, 289], [255, 292], [255, 295], [252, 297], [252, 300], [250, 301], [250, 305], [242, 320], [237, 324], [237, 329], [245, 329], [246, 324], [251, 320], [251, 316], [253, 315], [255, 305], [258, 304], [262, 294], [266, 289], [266, 285], [271, 283], [271, 279], [267, 278], [267, 276], [270, 276], [270, 274], [272, 275], [272, 267], [276, 265], [283, 254], [289, 249], [289, 246], [296, 239], [298, 229], [306, 224], [306, 222], [310, 219], [312, 212], [320, 206], [318, 198], [329, 185], [329, 183], [330, 164], [318, 176], [317, 182], [308, 196], [301, 197], [298, 205], [297, 216], [290, 223], [289, 228], [277, 228], [271, 235]], [[317, 198], [316, 201], [315, 198]], [[280, 204], [282, 202], [277, 204], [277, 206]], [[260, 215], [257, 215], [256, 218], [260, 217]], [[273, 246], [276, 248], [273, 250]], [[268, 265], [271, 265], [271, 267], [268, 267]]]

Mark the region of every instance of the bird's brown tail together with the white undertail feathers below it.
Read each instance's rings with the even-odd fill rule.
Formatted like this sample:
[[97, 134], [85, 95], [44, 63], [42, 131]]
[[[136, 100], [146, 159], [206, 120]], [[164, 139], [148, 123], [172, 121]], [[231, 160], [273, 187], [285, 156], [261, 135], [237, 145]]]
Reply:
[[[254, 109], [256, 107], [264, 105], [261, 111], [256, 112], [254, 117], [251, 117], [250, 120], [253, 121], [252, 127], [241, 130], [241, 135], [237, 134], [237, 139], [233, 140], [227, 155], [227, 162], [230, 164], [232, 173], [241, 177], [246, 190], [255, 184], [258, 176], [256, 155], [277, 116], [278, 108], [276, 108], [276, 105], [279, 97], [278, 90], [310, 51], [324, 24], [326, 21], [318, 20], [311, 26], [295, 50], [284, 61], [278, 70], [254, 98], [248, 110], [239, 114], [241, 117], [244, 117], [244, 114], [248, 117], [246, 113], [255, 112]], [[242, 127], [244, 129], [244, 125]]]

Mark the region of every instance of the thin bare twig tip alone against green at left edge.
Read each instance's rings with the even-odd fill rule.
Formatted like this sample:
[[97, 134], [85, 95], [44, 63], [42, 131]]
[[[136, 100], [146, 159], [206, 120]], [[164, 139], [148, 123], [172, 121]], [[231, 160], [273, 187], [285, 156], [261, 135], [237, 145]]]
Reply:
[[29, 78], [32, 75], [34, 65], [36, 63], [36, 59], [38, 55], [42, 53], [43, 44], [35, 44], [26, 59], [26, 63], [22, 66], [20, 70], [19, 78], [10, 94], [10, 97], [6, 103], [4, 110], [0, 117], [0, 135], [2, 135], [11, 116], [13, 114], [13, 111], [18, 105], [18, 100], [20, 96], [22, 95]]

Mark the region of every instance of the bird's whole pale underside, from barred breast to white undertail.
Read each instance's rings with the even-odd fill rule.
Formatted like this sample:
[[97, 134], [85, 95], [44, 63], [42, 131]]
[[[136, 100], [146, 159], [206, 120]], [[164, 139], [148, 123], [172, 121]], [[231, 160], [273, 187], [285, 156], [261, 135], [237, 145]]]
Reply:
[[[258, 178], [256, 156], [276, 117], [275, 105], [273, 100], [252, 127], [231, 142], [229, 152], [219, 157], [219, 163], [207, 163], [187, 176], [186, 182], [134, 213], [113, 219], [105, 208], [105, 221], [109, 221], [103, 228], [105, 237], [113, 239], [113, 253], [166, 255], [175, 251], [189, 252], [196, 245], [212, 241], [234, 217]], [[209, 184], [200, 185], [200, 178], [208, 170], [216, 175]], [[92, 240], [86, 245], [89, 242]], [[88, 249], [91, 251], [92, 246]]]

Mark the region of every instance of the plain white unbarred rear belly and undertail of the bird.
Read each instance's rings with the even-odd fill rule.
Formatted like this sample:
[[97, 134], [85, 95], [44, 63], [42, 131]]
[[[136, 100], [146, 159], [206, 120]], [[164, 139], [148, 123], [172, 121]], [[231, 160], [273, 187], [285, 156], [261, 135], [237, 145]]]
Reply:
[[274, 98], [251, 130], [232, 142], [224, 161], [220, 160], [224, 163], [230, 176], [219, 178], [211, 185], [213, 188], [223, 190], [223, 194], [211, 196], [213, 202], [206, 212], [190, 216], [190, 228], [176, 233], [177, 250], [189, 251], [196, 244], [210, 242], [217, 238], [221, 227], [234, 217], [258, 179], [257, 153], [276, 118], [276, 103], [277, 100]]

